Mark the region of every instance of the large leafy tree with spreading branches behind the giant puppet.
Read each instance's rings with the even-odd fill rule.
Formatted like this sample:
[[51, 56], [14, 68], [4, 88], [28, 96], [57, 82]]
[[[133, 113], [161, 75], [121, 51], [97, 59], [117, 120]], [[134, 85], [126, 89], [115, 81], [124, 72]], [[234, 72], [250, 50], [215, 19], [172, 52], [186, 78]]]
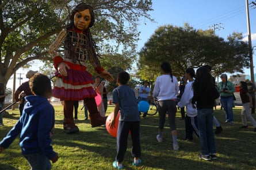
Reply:
[[[139, 19], [150, 19], [151, 0], [86, 1], [94, 7], [94, 39], [101, 54], [136, 56]], [[52, 61], [48, 46], [69, 22], [68, 14], [80, 1], [0, 1], [0, 82], [33, 60]], [[122, 49], [122, 50], [120, 50]], [[105, 59], [105, 58], [102, 58]], [[127, 68], [125, 68], [127, 69]]]

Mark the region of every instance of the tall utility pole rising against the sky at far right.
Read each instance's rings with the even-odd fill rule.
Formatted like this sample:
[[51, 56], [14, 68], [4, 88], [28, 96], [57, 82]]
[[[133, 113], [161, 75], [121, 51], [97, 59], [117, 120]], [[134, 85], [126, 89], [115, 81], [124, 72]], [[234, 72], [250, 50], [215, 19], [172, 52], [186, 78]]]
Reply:
[[246, 17], [247, 17], [247, 32], [248, 32], [248, 44], [249, 44], [251, 82], [254, 83], [253, 49], [251, 47], [251, 29], [250, 29], [249, 3], [248, 3], [248, 0], [246, 0], [245, 2], [246, 2]]

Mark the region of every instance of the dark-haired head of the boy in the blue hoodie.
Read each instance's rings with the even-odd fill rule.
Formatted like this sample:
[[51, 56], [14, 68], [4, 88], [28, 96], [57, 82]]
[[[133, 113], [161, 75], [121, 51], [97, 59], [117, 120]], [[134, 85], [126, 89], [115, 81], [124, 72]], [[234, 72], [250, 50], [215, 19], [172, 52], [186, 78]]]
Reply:
[[52, 88], [51, 80], [44, 74], [36, 73], [29, 79], [29, 88], [37, 96], [44, 96]]

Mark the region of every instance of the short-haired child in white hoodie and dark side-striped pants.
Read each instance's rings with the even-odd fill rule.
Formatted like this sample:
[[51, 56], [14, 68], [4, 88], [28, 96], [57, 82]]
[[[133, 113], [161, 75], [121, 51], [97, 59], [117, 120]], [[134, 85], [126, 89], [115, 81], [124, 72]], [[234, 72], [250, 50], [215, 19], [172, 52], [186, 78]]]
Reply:
[[199, 130], [197, 126], [197, 109], [192, 107], [192, 97], [193, 97], [193, 82], [194, 82], [194, 69], [188, 68], [185, 71], [185, 77], [189, 82], [185, 86], [184, 93], [182, 94], [181, 100], [178, 102], [180, 108], [186, 106], [186, 117], [185, 117], [185, 130], [186, 137], [185, 140], [193, 140], [193, 132], [199, 137]]

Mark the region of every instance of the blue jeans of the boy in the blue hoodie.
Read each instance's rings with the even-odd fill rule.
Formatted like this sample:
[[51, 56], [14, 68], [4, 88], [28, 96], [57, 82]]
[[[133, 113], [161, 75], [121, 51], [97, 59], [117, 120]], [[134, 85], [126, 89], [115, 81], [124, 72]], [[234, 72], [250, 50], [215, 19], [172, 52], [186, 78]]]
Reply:
[[31, 170], [49, 170], [52, 168], [50, 160], [43, 153], [24, 155]]

